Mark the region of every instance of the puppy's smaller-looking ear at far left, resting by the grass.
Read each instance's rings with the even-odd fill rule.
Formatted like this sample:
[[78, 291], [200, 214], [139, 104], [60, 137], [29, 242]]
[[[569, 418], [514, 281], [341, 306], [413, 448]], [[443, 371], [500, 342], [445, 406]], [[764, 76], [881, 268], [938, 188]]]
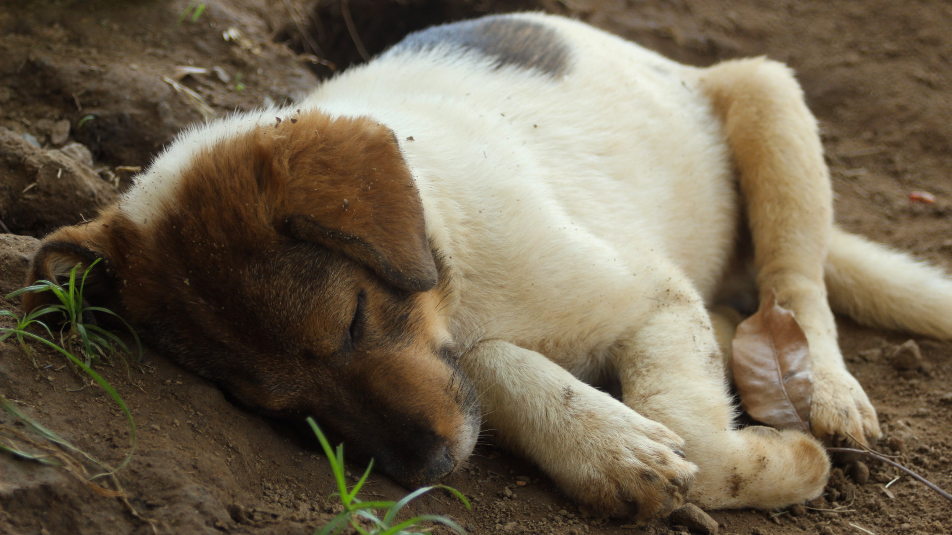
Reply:
[[[27, 271], [26, 286], [38, 281], [51, 281], [60, 285], [69, 282], [69, 272], [76, 268], [76, 281], [82, 281], [84, 274], [97, 259], [99, 262], [89, 271], [83, 287], [83, 297], [90, 303], [97, 303], [111, 293], [115, 285], [109, 259], [106, 258], [97, 234], [101, 225], [89, 223], [80, 227], [60, 228], [43, 239]], [[44, 305], [58, 304], [59, 300], [51, 291], [26, 292], [23, 294], [23, 309], [30, 312]]]

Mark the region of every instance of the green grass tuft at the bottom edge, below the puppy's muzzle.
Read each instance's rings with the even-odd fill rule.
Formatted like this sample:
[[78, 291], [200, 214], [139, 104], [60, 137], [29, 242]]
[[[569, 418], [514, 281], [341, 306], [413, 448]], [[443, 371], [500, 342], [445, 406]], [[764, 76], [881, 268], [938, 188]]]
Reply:
[[[446, 525], [453, 531], [466, 535], [466, 529], [463, 529], [462, 525], [439, 515], [417, 515], [403, 522], [394, 524], [400, 509], [434, 488], [443, 488], [451, 492], [459, 498], [468, 509], [469, 501], [466, 500], [466, 496], [464, 496], [462, 492], [451, 486], [431, 485], [410, 492], [398, 502], [362, 502], [357, 498], [357, 493], [367, 482], [367, 476], [370, 475], [370, 468], [373, 466], [373, 461], [370, 461], [367, 470], [364, 471], [364, 475], [360, 480], [348, 490], [347, 476], [344, 471], [344, 445], [338, 445], [336, 450], [332, 449], [324, 433], [321, 432], [321, 428], [314, 422], [314, 419], [308, 417], [307, 424], [314, 430], [314, 434], [317, 435], [317, 440], [321, 443], [321, 447], [324, 448], [324, 453], [327, 455], [327, 461], [330, 462], [330, 469], [334, 472], [334, 480], [337, 482], [338, 491], [331, 494], [331, 496], [340, 498], [341, 505], [344, 506], [343, 511], [338, 513], [327, 525], [315, 531], [314, 535], [337, 535], [343, 531], [347, 525], [361, 535], [409, 535], [413, 533], [428, 533], [432, 527], [421, 527], [421, 525], [426, 522]], [[378, 517], [374, 513], [374, 510], [383, 510], [384, 518]], [[364, 525], [358, 524], [358, 519], [369, 521], [371, 526], [367, 528]]]

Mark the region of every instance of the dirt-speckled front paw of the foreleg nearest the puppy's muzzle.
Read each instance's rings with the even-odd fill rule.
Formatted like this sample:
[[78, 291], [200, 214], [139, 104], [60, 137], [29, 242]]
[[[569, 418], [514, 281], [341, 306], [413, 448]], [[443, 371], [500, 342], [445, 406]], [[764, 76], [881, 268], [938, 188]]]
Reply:
[[624, 406], [583, 426], [558, 445], [557, 466], [547, 466], [566, 493], [600, 514], [638, 521], [684, 503], [697, 466], [684, 459], [681, 437]]

